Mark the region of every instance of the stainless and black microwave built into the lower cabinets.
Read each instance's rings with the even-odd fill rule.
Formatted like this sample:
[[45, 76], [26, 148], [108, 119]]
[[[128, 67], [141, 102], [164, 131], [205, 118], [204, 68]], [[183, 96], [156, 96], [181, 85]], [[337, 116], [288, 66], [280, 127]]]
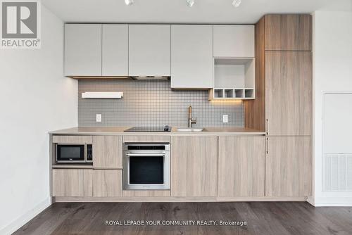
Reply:
[[92, 144], [56, 144], [57, 163], [92, 163]]

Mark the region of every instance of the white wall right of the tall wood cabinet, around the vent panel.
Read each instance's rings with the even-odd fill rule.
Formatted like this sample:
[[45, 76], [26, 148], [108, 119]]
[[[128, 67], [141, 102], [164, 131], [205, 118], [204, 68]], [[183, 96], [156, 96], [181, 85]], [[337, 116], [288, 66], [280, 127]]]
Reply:
[[352, 205], [352, 192], [322, 191], [322, 97], [327, 91], [352, 91], [352, 12], [315, 12], [313, 41], [313, 203]]

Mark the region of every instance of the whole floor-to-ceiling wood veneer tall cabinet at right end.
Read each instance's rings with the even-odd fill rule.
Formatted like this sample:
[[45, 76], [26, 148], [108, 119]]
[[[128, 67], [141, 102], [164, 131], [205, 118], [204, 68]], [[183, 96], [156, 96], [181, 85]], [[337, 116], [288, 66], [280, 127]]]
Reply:
[[311, 193], [311, 44], [310, 15], [256, 24], [256, 99], [245, 102], [245, 126], [266, 133], [265, 196]]

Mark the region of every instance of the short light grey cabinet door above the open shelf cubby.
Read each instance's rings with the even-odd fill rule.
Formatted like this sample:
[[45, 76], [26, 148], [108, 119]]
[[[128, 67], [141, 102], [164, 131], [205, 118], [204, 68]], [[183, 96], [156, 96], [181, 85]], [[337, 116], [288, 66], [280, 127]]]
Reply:
[[214, 57], [254, 57], [254, 25], [214, 25]]

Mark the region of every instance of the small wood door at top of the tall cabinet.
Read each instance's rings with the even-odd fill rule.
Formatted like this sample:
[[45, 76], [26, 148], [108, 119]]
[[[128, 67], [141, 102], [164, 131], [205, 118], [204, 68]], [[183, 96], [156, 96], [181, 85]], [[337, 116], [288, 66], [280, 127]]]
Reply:
[[311, 50], [311, 15], [265, 15], [265, 51]]

